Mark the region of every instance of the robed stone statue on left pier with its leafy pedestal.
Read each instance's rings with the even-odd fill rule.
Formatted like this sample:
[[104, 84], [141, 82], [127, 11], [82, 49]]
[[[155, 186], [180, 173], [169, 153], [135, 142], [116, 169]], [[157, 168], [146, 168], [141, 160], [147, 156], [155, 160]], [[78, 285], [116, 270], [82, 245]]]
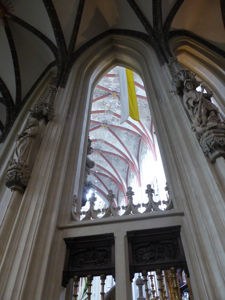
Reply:
[[11, 190], [17, 190], [23, 193], [29, 182], [29, 160], [32, 155], [32, 144], [39, 131], [38, 120], [36, 118], [30, 118], [29, 126], [26, 130], [18, 133], [16, 149], [6, 170], [5, 185]]

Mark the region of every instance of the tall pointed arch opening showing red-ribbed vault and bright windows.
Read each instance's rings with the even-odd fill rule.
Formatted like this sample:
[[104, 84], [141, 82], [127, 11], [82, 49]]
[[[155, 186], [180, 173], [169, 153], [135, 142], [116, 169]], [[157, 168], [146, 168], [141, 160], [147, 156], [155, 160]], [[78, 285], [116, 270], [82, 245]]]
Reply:
[[[168, 200], [165, 191], [166, 178], [153, 126], [148, 99], [142, 79], [131, 72], [137, 118], [126, 116], [123, 88], [127, 86], [125, 68], [114, 67], [96, 85], [91, 107], [88, 156], [85, 165], [85, 181], [82, 209], [90, 208], [92, 192], [97, 196], [95, 209], [109, 205], [107, 194], [111, 190], [115, 207], [128, 205], [128, 187], [135, 193], [134, 204], [148, 202], [146, 187], [151, 184], [155, 205], [162, 210]], [[90, 150], [90, 151], [89, 151]], [[85, 205], [84, 205], [85, 204]], [[139, 211], [145, 211], [140, 207]], [[122, 213], [122, 208], [120, 209]], [[103, 216], [101, 212], [99, 215]]]

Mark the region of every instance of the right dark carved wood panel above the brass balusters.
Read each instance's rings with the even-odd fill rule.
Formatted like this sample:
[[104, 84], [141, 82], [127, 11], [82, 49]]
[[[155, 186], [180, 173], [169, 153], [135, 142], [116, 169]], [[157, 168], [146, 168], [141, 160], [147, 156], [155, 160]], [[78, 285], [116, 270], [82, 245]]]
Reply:
[[154, 271], [156, 268], [187, 270], [180, 228], [171, 226], [127, 232], [131, 280], [135, 273]]

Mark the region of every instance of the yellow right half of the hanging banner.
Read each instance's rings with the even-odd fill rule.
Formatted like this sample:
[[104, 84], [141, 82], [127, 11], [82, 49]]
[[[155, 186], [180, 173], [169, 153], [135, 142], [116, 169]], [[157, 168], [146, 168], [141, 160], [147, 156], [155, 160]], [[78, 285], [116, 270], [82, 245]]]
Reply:
[[133, 71], [126, 69], [126, 74], [127, 74], [130, 117], [135, 121], [140, 121], [138, 106], [137, 106], [137, 96], [136, 96], [136, 91], [134, 86]]

